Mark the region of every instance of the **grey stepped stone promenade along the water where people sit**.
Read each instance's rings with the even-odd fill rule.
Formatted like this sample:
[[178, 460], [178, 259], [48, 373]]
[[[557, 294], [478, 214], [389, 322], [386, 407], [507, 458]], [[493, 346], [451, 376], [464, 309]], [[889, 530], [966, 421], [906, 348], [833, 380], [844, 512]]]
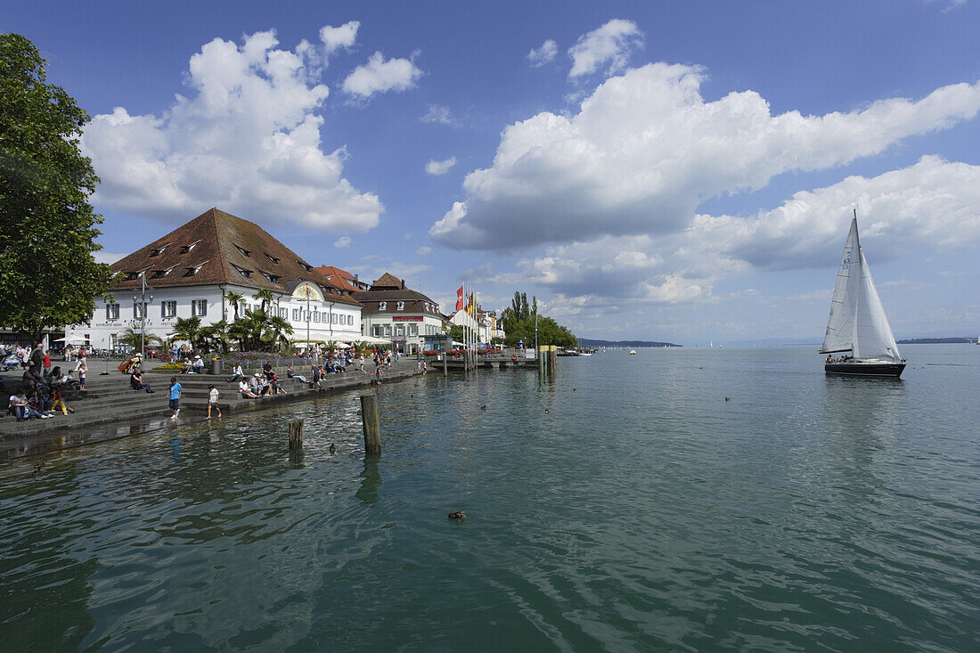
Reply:
[[[60, 412], [50, 420], [29, 420], [17, 422], [4, 411], [0, 418], [0, 460], [36, 455], [62, 448], [69, 448], [92, 442], [105, 441], [147, 432], [172, 425], [172, 411], [168, 407], [168, 387], [171, 377], [177, 377], [183, 387], [180, 402], [179, 424], [203, 421], [207, 415], [208, 386], [214, 384], [221, 393], [219, 406], [226, 416], [263, 410], [272, 405], [309, 399], [321, 394], [343, 392], [359, 387], [368, 388], [373, 374], [365, 374], [357, 366], [337, 375], [327, 375], [319, 387], [310, 387], [297, 378], [287, 378], [286, 369], [275, 368], [279, 382], [286, 394], [269, 395], [259, 399], [243, 398], [238, 393], [238, 382], [228, 382], [229, 373], [222, 375], [176, 375], [172, 371], [154, 371], [155, 361], [147, 364], [143, 374], [144, 382], [150, 384], [153, 393], [133, 390], [129, 386], [129, 376], [121, 374], [116, 367], [119, 361], [110, 361], [109, 375], [100, 376], [106, 366], [104, 361], [89, 361], [89, 376], [86, 379], [86, 392], [77, 399], [67, 400], [74, 413], [62, 415]], [[366, 369], [373, 370], [373, 364]], [[246, 371], [254, 373], [258, 370]], [[297, 368], [300, 374], [300, 371]], [[415, 359], [400, 358], [392, 363], [382, 377], [382, 383], [393, 382], [417, 374]], [[431, 371], [430, 371], [431, 374]], [[4, 378], [7, 395], [21, 387], [21, 373], [10, 372], [0, 375]], [[306, 377], [310, 377], [306, 372]], [[217, 413], [215, 413], [217, 415]]]

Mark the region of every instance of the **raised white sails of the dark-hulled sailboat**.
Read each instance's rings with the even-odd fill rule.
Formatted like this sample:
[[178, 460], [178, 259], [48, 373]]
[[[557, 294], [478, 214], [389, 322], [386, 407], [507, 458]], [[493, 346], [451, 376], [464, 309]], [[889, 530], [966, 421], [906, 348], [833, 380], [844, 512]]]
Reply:
[[860, 247], [857, 217], [851, 221], [851, 231], [844, 245], [827, 333], [820, 351], [824, 354], [850, 351], [856, 359], [897, 361], [902, 358]]

